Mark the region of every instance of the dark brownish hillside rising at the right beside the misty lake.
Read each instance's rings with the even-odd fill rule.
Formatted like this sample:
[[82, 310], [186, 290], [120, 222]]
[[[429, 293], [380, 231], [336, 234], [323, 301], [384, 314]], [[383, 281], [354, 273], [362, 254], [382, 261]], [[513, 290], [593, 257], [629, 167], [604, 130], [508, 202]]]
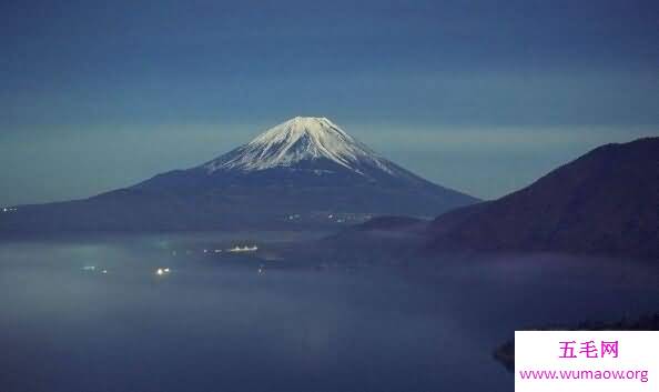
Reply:
[[435, 250], [659, 255], [659, 138], [607, 144], [501, 199], [438, 217]]

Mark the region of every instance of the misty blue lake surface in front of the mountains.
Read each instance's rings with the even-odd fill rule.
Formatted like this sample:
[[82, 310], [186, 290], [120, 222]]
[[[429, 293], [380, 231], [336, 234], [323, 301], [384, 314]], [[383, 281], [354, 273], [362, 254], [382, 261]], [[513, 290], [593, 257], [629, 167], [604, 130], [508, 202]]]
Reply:
[[0, 390], [513, 391], [491, 352], [515, 329], [659, 309], [628, 260], [291, 268], [226, 253], [245, 239], [306, 234], [1, 243]]

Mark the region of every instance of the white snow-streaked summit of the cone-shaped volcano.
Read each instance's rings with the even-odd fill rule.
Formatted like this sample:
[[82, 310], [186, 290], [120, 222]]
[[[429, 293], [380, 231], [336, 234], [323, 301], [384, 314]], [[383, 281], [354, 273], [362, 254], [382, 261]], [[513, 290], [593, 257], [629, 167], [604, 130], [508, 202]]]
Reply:
[[217, 170], [258, 171], [291, 168], [304, 161], [328, 160], [345, 169], [366, 175], [366, 169], [379, 169], [388, 174], [397, 170], [324, 117], [296, 117], [263, 132], [254, 140], [211, 162], [204, 168]]

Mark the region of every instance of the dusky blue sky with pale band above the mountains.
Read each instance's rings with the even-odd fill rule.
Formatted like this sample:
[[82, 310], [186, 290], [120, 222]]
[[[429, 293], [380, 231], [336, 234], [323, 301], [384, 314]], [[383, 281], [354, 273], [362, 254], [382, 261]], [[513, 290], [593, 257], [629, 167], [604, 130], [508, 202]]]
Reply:
[[3, 1], [0, 204], [81, 198], [324, 115], [496, 198], [659, 134], [656, 1]]

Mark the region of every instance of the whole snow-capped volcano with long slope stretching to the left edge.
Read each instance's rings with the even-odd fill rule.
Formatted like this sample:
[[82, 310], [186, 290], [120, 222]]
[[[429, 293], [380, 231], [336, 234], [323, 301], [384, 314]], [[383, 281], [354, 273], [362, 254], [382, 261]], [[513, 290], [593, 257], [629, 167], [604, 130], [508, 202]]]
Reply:
[[90, 199], [23, 205], [0, 231], [295, 229], [436, 215], [477, 200], [379, 157], [325, 118], [295, 118], [187, 170]]

